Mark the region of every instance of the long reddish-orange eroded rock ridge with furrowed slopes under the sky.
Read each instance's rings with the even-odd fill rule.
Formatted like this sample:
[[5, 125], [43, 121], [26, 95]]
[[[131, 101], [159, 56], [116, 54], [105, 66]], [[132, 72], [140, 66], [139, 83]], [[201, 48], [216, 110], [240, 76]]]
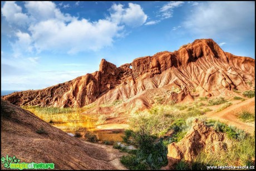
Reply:
[[137, 58], [120, 67], [102, 59], [99, 71], [45, 89], [5, 95], [3, 99], [16, 105], [54, 107], [135, 99], [150, 107], [152, 99], [142, 95], [145, 90], [161, 91], [175, 86], [194, 95], [210, 97], [232, 93], [234, 89], [252, 89], [254, 62], [252, 58], [224, 52], [212, 39], [197, 39], [178, 51]]

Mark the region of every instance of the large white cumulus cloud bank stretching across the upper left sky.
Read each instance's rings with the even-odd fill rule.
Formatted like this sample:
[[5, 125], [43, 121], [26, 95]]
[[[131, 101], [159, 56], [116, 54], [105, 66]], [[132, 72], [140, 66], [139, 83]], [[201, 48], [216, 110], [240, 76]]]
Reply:
[[139, 27], [147, 19], [140, 5], [134, 3], [129, 3], [128, 7], [113, 4], [108, 17], [93, 22], [62, 13], [55, 3], [49, 1], [29, 1], [24, 7], [27, 13], [22, 13], [22, 8], [15, 2], [5, 2], [2, 7], [2, 14], [10, 23], [16, 21], [13, 16], [17, 15], [26, 16], [30, 22], [26, 31], [16, 31], [17, 41], [12, 43], [16, 57], [22, 51], [35, 50], [37, 53], [56, 51], [70, 54], [97, 51], [112, 46], [116, 37], [124, 36], [126, 26]]

